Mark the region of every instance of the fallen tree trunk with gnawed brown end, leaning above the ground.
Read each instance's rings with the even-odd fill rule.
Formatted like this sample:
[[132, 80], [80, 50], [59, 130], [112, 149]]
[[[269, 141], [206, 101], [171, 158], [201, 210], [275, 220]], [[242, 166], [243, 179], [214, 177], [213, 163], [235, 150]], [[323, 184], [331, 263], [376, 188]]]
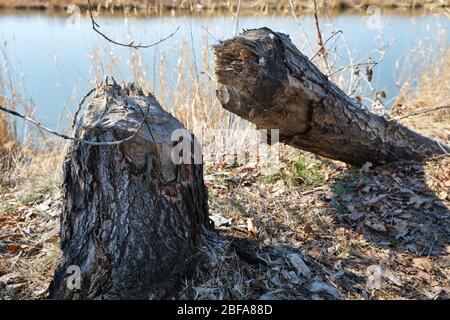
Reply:
[[248, 30], [215, 46], [222, 106], [280, 141], [349, 164], [422, 160], [450, 151], [364, 109], [285, 34]]

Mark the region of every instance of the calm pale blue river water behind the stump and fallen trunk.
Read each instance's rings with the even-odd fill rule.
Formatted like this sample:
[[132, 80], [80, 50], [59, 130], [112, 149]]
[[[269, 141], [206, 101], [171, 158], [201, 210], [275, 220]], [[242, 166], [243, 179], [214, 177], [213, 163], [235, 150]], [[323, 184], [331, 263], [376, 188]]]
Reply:
[[[265, 26], [287, 33], [305, 54], [311, 56], [314, 50], [310, 49], [306, 38], [315, 42], [314, 21], [311, 16], [301, 17], [300, 21], [301, 27], [289, 14], [243, 15], [239, 18], [238, 28]], [[202, 73], [206, 70], [202, 57], [205, 48], [234, 36], [236, 32], [236, 19], [232, 15], [111, 16], [101, 17], [98, 22], [109, 36], [125, 41], [131, 35], [136, 41], [153, 42], [180, 27], [173, 37], [157, 48], [139, 52], [145, 62], [142, 68], [146, 81], [151, 83], [157, 96], [163, 93], [159, 92], [162, 90], [159, 72], [154, 72], [153, 68], [160, 69], [161, 57], [164, 57], [166, 82], [169, 87], [175, 87], [178, 73], [182, 72], [180, 62], [181, 65], [190, 63], [192, 44], [198, 72], [205, 76]], [[382, 63], [374, 69], [372, 80], [373, 87], [386, 92], [387, 104], [398, 95], [398, 81], [406, 67], [404, 64], [414, 50], [422, 47], [433, 53], [450, 43], [450, 22], [443, 12], [420, 15], [395, 11], [381, 15], [344, 12], [322, 18], [321, 24], [324, 39], [330, 36], [333, 28], [343, 32], [328, 43], [337, 48], [337, 54], [332, 52], [336, 66], [349, 64], [349, 53], [354, 63], [365, 61], [369, 55], [377, 59], [380, 56], [377, 49], [389, 45]], [[61, 128], [69, 123], [77, 102], [95, 83], [99, 72], [103, 75], [112, 73], [118, 81], [134, 79], [130, 61], [136, 51], [108, 43], [92, 31], [89, 19], [76, 14], [0, 12], [0, 41], [4, 86], [8, 81], [12, 83], [22, 99], [32, 103], [35, 116], [52, 127]], [[212, 50], [207, 49], [207, 54], [211, 56]], [[114, 70], [108, 68], [111, 64], [115, 65]], [[420, 68], [413, 65], [409, 70], [413, 77], [420, 76]], [[0, 94], [11, 95], [7, 88], [4, 91]]]

